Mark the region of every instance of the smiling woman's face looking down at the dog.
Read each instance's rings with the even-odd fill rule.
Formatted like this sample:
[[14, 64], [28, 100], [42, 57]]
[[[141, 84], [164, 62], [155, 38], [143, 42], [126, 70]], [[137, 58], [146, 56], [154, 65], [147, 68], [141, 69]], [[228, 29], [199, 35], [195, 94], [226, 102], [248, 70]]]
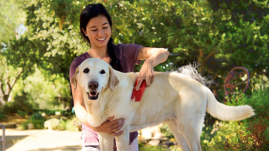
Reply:
[[86, 26], [86, 30], [82, 30], [90, 39], [92, 48], [100, 49], [107, 47], [108, 40], [111, 37], [111, 27], [106, 16], [98, 15], [97, 17], [90, 19]]

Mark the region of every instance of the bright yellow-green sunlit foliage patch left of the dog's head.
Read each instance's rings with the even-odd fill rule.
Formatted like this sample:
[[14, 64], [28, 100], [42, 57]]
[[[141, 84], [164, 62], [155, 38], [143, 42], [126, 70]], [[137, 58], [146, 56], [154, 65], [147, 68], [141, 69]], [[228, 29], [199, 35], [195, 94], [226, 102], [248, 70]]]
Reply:
[[14, 85], [10, 100], [15, 102], [14, 95], [25, 92], [25, 100], [32, 104], [33, 109], [63, 110], [71, 103], [69, 87], [69, 82], [62, 76], [45, 78], [42, 71], [36, 69], [33, 75]]

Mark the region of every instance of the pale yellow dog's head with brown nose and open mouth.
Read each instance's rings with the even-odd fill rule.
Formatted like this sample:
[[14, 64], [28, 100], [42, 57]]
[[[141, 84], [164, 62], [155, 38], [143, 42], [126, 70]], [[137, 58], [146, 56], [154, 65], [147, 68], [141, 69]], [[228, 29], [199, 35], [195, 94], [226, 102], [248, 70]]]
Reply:
[[82, 91], [86, 91], [89, 99], [96, 100], [104, 88], [109, 87], [113, 91], [119, 84], [119, 79], [106, 61], [88, 58], [77, 67], [71, 83], [74, 84], [75, 90], [78, 83]]

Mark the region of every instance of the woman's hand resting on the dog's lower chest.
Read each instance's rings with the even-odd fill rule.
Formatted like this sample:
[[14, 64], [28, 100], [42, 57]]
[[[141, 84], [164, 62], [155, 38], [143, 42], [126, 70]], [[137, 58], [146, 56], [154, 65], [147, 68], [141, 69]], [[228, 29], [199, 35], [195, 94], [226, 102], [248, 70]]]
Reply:
[[120, 134], [123, 133], [123, 131], [122, 130], [120, 132], [117, 132], [117, 131], [119, 131], [123, 127], [124, 119], [120, 118], [120, 119], [112, 120], [113, 118], [114, 116], [108, 118], [107, 121], [102, 123], [100, 126], [92, 127], [92, 129], [95, 132], [103, 132], [103, 133], [111, 134], [114, 136], [119, 136]]

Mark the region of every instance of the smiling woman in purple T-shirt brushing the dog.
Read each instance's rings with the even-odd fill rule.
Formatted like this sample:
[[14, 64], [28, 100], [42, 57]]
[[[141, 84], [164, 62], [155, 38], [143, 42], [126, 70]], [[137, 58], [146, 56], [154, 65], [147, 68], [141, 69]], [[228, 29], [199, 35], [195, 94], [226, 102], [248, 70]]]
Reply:
[[[145, 60], [138, 76], [137, 90], [143, 79], [146, 86], [154, 81], [153, 67], [166, 61], [169, 51], [164, 48], [143, 47], [137, 44], [112, 44], [111, 38], [111, 17], [102, 4], [89, 4], [80, 14], [80, 31], [83, 37], [89, 42], [91, 48], [75, 58], [71, 63], [70, 79], [76, 68], [87, 58], [100, 58], [109, 63], [115, 70], [121, 72], [133, 72], [135, 64]], [[77, 118], [82, 122], [82, 150], [100, 150], [97, 132], [105, 132], [114, 136], [122, 134], [120, 128], [124, 119], [113, 119], [110, 117], [99, 127], [93, 127], [87, 121], [88, 112], [85, 109], [81, 87], [78, 85], [74, 90], [71, 84], [74, 111]], [[130, 133], [129, 150], [138, 150], [137, 132]], [[115, 148], [115, 144], [114, 144]]]

